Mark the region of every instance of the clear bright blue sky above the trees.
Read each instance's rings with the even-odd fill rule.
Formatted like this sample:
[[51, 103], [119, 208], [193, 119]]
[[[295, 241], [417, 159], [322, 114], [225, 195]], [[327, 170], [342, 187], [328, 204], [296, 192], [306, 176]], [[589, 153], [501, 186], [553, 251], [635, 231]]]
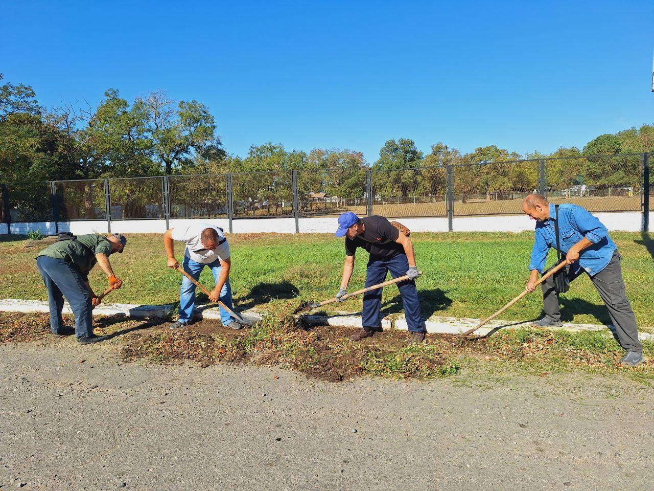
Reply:
[[654, 2], [3, 1], [0, 72], [44, 105], [167, 90], [226, 150], [555, 151], [654, 123]]

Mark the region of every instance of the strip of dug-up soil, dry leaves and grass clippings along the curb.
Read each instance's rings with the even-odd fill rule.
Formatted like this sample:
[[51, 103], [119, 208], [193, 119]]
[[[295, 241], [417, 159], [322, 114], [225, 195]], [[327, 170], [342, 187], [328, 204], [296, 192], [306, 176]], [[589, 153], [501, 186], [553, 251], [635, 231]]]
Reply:
[[[349, 336], [356, 329], [309, 328], [292, 315], [298, 301], [273, 303], [271, 312], [256, 327], [240, 331], [217, 321], [171, 330], [165, 329], [162, 321], [104, 318], [96, 321], [95, 332], [126, 333], [116, 338], [126, 361], [192, 362], [201, 367], [252, 363], [332, 382], [357, 376], [430, 380], [455, 375], [481, 362], [541, 376], [581, 369], [610, 376], [625, 374], [642, 384], [654, 384], [654, 363], [620, 367], [617, 362], [624, 350], [607, 333], [502, 329], [490, 338], [428, 335], [426, 343], [407, 346], [407, 333], [391, 329], [351, 342]], [[39, 340], [49, 334], [47, 314], [8, 314], [0, 322], [0, 342]], [[646, 341], [643, 346], [645, 357], [653, 359], [654, 342]]]

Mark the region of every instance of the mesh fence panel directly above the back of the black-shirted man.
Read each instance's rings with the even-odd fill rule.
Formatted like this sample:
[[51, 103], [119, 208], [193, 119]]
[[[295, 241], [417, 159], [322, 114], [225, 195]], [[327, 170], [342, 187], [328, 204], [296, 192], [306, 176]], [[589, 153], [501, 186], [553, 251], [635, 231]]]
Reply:
[[374, 215], [389, 218], [444, 217], [445, 167], [373, 170]]

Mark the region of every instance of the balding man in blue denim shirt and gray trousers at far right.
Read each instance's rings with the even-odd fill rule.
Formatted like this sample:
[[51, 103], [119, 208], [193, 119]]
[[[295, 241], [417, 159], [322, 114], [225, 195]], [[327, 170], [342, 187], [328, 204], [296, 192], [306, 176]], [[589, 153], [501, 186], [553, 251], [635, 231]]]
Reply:
[[[523, 211], [536, 220], [536, 242], [532, 249], [529, 269], [531, 276], [526, 285], [534, 291], [538, 273], [544, 274], [545, 261], [550, 247], [557, 247], [555, 221], [559, 222], [560, 252], [566, 256], [566, 274], [570, 281], [583, 272], [604, 300], [615, 326], [615, 334], [627, 354], [620, 360], [624, 365], [635, 366], [643, 361], [643, 348], [638, 340], [636, 316], [625, 293], [620, 261], [615, 243], [608, 230], [586, 209], [574, 204], [562, 204], [557, 212], [555, 206], [540, 194], [530, 194], [523, 202]], [[557, 216], [558, 215], [558, 216]], [[542, 285], [543, 312], [545, 317], [536, 321], [538, 327], [558, 327], [561, 323], [559, 294], [550, 276]]]

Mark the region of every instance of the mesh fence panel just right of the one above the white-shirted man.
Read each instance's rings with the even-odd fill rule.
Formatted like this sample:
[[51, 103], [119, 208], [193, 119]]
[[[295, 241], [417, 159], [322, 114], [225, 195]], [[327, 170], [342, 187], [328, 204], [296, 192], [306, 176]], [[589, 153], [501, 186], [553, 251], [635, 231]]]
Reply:
[[232, 175], [234, 217], [293, 216], [290, 172]]

